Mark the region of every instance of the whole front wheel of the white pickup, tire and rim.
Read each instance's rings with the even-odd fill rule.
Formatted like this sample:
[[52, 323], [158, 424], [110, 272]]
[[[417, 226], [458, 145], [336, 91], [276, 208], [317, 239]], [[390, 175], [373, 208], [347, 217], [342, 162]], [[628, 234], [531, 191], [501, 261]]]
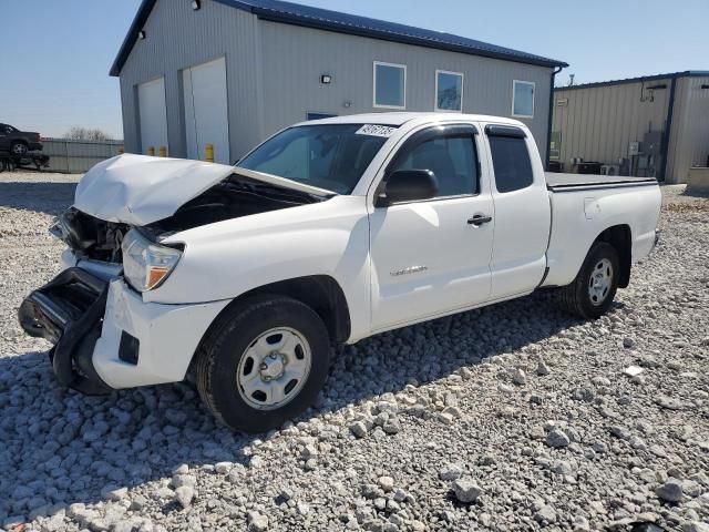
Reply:
[[328, 375], [320, 317], [282, 296], [256, 296], [218, 318], [196, 360], [199, 396], [233, 429], [265, 432], [312, 405]]

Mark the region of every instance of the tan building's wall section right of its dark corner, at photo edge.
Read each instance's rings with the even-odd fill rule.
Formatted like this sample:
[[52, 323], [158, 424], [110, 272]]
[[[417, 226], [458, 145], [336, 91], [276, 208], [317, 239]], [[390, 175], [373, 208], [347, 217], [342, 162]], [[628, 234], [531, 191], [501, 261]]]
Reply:
[[677, 80], [667, 181], [687, 183], [689, 168], [709, 157], [709, 76]]

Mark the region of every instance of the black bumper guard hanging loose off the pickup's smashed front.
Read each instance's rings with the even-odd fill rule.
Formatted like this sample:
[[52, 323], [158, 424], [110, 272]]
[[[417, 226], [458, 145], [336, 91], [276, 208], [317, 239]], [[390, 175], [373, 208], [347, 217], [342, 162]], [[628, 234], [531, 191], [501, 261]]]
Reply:
[[84, 269], [69, 268], [30, 294], [18, 311], [27, 334], [54, 344], [50, 360], [59, 382], [88, 395], [112, 390], [92, 361], [107, 293], [107, 282]]

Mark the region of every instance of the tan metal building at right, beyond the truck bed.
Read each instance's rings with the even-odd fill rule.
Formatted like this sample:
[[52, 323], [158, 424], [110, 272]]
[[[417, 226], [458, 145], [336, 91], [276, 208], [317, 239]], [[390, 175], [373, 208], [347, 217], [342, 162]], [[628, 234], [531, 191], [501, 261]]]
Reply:
[[554, 90], [551, 160], [565, 172], [686, 183], [709, 165], [709, 72]]

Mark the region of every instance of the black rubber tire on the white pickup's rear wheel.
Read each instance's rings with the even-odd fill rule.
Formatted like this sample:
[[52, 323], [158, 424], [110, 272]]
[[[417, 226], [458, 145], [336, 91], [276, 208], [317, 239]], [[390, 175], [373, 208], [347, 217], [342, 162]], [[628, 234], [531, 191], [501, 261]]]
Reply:
[[[603, 267], [598, 268], [604, 262]], [[595, 274], [604, 274], [608, 272], [607, 264], [610, 266], [609, 286], [604, 288], [602, 293], [592, 296], [589, 286], [592, 285], [592, 276]], [[608, 311], [613, 299], [618, 290], [618, 278], [620, 275], [620, 260], [618, 252], [615, 247], [606, 242], [595, 243], [586, 260], [584, 260], [580, 272], [574, 282], [559, 288], [559, 303], [564, 310], [575, 314], [584, 319], [597, 319]]]

